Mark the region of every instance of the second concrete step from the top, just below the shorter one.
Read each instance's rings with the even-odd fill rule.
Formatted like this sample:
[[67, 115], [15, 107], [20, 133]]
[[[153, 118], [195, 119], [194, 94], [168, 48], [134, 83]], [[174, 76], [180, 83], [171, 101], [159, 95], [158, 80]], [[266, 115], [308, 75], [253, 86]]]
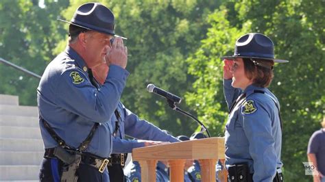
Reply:
[[38, 109], [35, 106], [0, 105], [0, 115], [38, 117]]

